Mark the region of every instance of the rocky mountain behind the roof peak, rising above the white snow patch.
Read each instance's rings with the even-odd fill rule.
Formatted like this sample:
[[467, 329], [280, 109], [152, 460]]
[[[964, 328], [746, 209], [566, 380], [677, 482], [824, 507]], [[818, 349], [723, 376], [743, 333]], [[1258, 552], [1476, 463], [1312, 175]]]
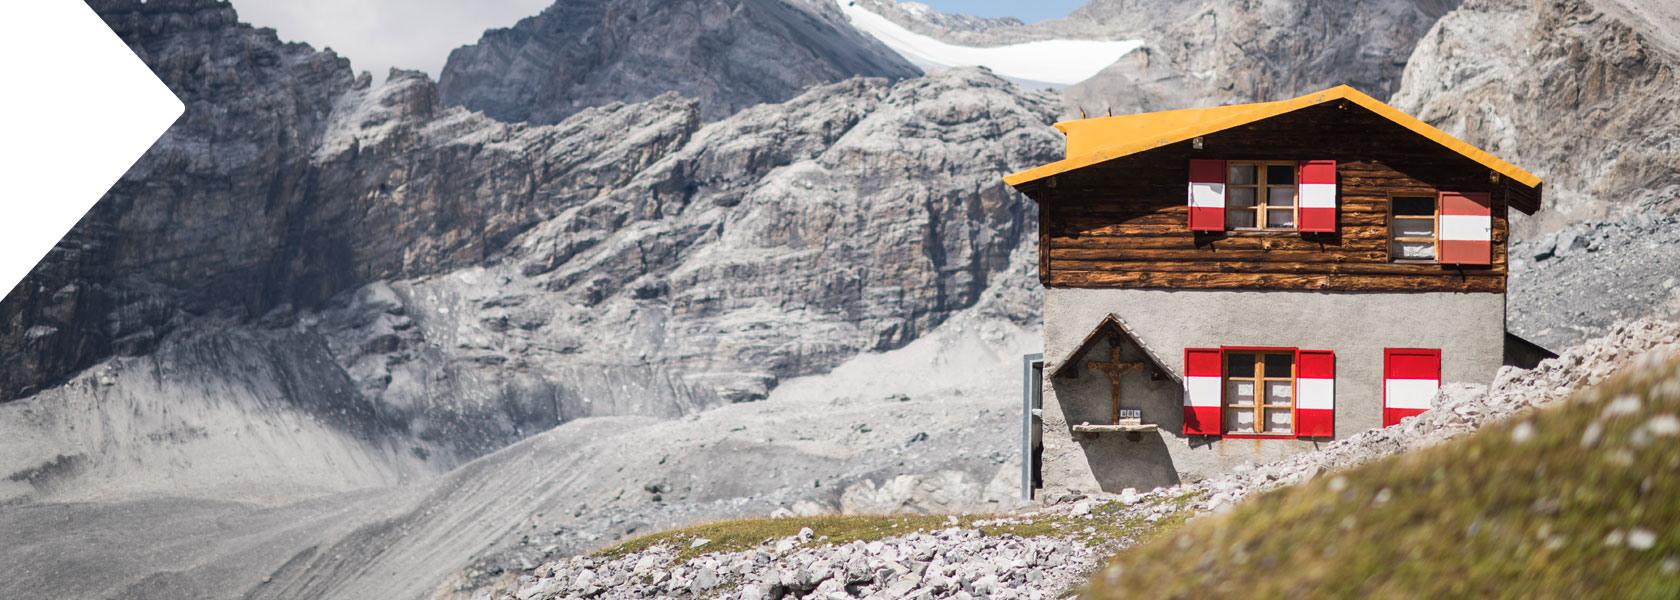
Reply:
[[1458, 2], [1094, 0], [1067, 18], [1032, 25], [954, 18], [894, 0], [862, 3], [953, 44], [1142, 40], [1112, 67], [1063, 89], [1070, 114], [1124, 114], [1270, 101], [1339, 84], [1386, 99], [1413, 45]]

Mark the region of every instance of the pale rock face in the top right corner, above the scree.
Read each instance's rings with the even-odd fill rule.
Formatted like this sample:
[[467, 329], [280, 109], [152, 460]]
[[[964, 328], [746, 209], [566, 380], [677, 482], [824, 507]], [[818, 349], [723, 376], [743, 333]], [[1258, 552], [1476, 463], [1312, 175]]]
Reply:
[[1673, 17], [1663, 2], [1467, 2], [1420, 42], [1394, 106], [1546, 180], [1546, 212], [1517, 224], [1522, 239], [1672, 213]]

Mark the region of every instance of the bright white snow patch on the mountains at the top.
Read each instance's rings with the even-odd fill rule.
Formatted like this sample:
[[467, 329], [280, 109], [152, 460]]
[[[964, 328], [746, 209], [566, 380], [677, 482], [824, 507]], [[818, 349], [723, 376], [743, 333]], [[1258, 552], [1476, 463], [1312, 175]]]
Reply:
[[835, 0], [852, 27], [899, 52], [922, 71], [986, 67], [1030, 87], [1063, 87], [1090, 79], [1142, 40], [1040, 40], [998, 47], [956, 45], [916, 34], [852, 0]]

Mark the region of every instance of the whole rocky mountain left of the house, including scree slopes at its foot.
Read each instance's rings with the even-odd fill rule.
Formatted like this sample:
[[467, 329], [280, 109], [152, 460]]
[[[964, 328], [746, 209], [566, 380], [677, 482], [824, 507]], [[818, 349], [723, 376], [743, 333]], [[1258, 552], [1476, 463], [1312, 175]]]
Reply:
[[[958, 314], [1005, 331], [986, 365], [1028, 351], [1008, 331], [1037, 316], [1033, 212], [996, 173], [1060, 151], [1052, 96], [949, 71], [711, 123], [670, 92], [511, 124], [445, 106], [420, 74], [375, 87], [227, 3], [94, 8], [188, 109], [0, 303], [0, 519], [32, 539], [13, 548], [81, 539], [87, 518], [136, 538], [15, 556], [0, 595], [366, 597], [390, 573], [360, 565], [391, 561], [427, 565], [433, 578], [405, 583], [420, 597], [484, 556], [638, 526], [973, 506], [1000, 469], [1006, 417], [971, 420], [1008, 405], [1013, 370], [976, 388], [974, 361], [860, 400], [806, 387], [672, 418], [904, 350]], [[946, 363], [941, 348], [900, 360]], [[900, 368], [874, 365], [848, 378]], [[914, 410], [820, 427], [830, 402], [874, 415], [884, 398]], [[712, 445], [790, 403], [803, 435]], [[543, 452], [486, 457], [571, 422], [531, 442]], [[637, 459], [672, 427], [692, 427], [689, 459]], [[917, 435], [953, 445], [906, 450]], [[780, 476], [722, 467], [724, 447], [756, 444]], [[625, 467], [647, 477], [613, 479]], [[674, 479], [690, 472], [707, 477]], [[539, 514], [548, 541], [521, 545]], [[128, 550], [153, 543], [183, 551]], [[39, 580], [66, 553], [116, 566]]]

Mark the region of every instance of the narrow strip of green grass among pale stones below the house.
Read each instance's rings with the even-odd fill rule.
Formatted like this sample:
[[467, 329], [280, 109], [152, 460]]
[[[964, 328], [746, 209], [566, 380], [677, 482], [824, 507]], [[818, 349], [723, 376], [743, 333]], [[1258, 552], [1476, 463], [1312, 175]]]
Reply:
[[[1168, 499], [1166, 503], [1169, 503], [1174, 511], [1152, 523], [1136, 516], [1122, 518], [1122, 506], [1119, 503], [1107, 503], [1094, 506], [1094, 518], [1089, 519], [1070, 516], [1040, 516], [1032, 519], [1032, 523], [995, 524], [986, 521], [998, 519], [1000, 516], [996, 514], [961, 514], [958, 516], [958, 523], [954, 526], [979, 529], [986, 536], [1058, 536], [1100, 546], [1116, 539], [1147, 539], [1161, 531], [1183, 524], [1189, 516], [1186, 508], [1193, 499], [1193, 496]], [[612, 560], [652, 548], [655, 545], [669, 545], [679, 551], [677, 561], [680, 563], [699, 555], [746, 551], [758, 548], [759, 545], [773, 545], [780, 538], [798, 534], [801, 528], [811, 528], [811, 545], [848, 545], [852, 541], [875, 541], [951, 526], [949, 516], [944, 514], [837, 514], [815, 518], [716, 521], [628, 539], [601, 550], [595, 553], [595, 556]], [[697, 538], [711, 541], [699, 548], [689, 548]]]

